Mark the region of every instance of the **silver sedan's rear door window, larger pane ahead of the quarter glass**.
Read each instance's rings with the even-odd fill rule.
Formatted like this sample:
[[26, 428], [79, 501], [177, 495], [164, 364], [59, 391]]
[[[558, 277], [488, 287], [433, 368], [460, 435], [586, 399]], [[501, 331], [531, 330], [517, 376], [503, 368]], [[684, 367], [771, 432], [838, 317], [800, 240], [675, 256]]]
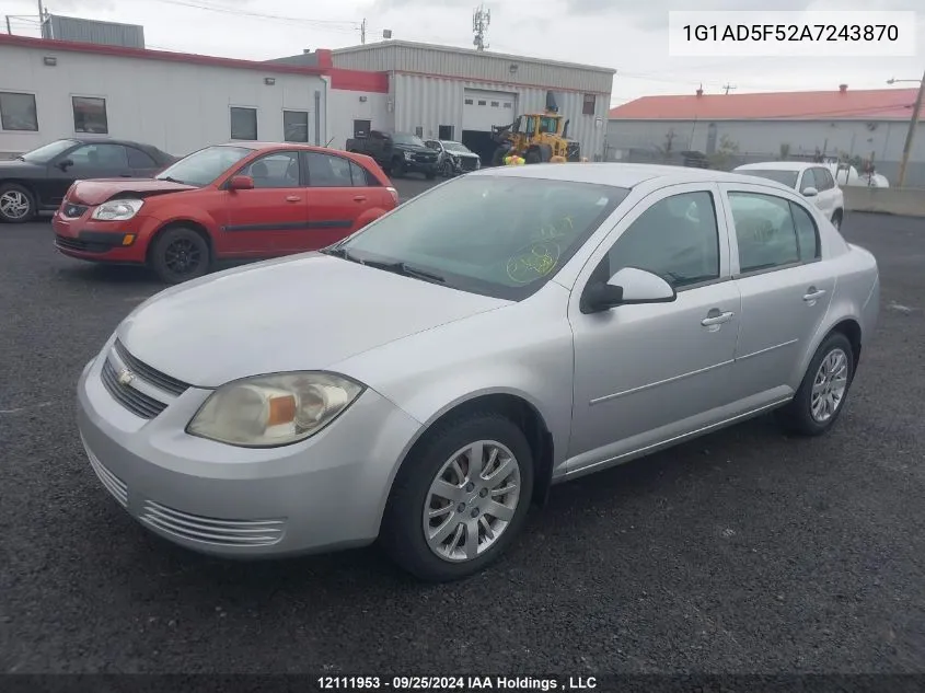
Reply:
[[799, 261], [790, 203], [773, 195], [729, 193], [742, 274]]

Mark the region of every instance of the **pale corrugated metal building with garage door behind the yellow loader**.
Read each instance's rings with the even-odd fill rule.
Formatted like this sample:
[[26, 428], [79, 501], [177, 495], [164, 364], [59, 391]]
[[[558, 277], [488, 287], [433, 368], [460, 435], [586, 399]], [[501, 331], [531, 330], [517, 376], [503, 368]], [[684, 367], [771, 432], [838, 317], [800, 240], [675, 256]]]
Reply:
[[333, 95], [334, 146], [369, 129], [454, 139], [490, 155], [493, 125], [543, 111], [552, 91], [582, 155], [603, 158], [615, 70], [404, 41], [319, 50], [274, 63], [388, 76], [388, 93]]

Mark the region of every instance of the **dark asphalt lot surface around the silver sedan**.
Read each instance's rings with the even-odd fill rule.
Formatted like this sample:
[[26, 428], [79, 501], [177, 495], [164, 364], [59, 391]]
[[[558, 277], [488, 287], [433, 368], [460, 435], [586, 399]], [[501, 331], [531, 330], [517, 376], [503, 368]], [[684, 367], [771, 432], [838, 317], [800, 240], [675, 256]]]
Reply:
[[882, 313], [831, 435], [761, 418], [558, 486], [495, 567], [421, 586], [374, 548], [232, 563], [131, 520], [74, 384], [162, 287], [0, 226], [0, 671], [925, 670], [925, 220], [845, 235]]

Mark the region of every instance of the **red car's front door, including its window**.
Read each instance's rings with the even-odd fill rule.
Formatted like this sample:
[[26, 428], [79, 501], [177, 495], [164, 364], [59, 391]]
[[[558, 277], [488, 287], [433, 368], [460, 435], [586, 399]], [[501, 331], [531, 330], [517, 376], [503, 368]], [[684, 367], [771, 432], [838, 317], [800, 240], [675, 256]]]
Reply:
[[250, 190], [227, 190], [223, 253], [269, 256], [287, 251], [291, 233], [308, 227], [308, 203], [297, 151], [275, 151], [246, 164], [238, 175], [254, 180]]

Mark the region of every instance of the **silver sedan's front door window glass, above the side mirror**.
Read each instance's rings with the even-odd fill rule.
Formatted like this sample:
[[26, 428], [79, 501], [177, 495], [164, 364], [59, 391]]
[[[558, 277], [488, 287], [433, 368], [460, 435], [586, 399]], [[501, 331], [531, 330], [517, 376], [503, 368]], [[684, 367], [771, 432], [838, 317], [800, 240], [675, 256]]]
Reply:
[[719, 278], [719, 229], [713, 195], [673, 195], [643, 212], [608, 253], [608, 276], [648, 269], [675, 289]]

